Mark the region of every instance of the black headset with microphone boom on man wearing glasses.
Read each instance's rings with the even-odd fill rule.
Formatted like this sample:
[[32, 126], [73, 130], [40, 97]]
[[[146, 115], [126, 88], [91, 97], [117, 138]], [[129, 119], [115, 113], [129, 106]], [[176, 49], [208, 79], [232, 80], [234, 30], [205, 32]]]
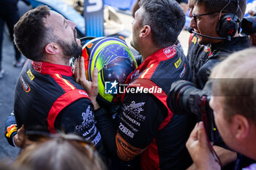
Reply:
[[[241, 8], [239, 6], [239, 0], [229, 0], [227, 5], [225, 7], [223, 7], [223, 9], [225, 9], [230, 4], [231, 1], [237, 3], [238, 8], [236, 11], [238, 11], [238, 9], [240, 9], [240, 11], [241, 11]], [[204, 36], [209, 39], [225, 39], [227, 41], [230, 41], [231, 38], [233, 38], [233, 36], [235, 36], [237, 31], [238, 31], [238, 33], [240, 32], [241, 21], [239, 20], [239, 18], [236, 14], [232, 14], [232, 13], [222, 14], [223, 9], [220, 11], [219, 22], [218, 22], [217, 28], [216, 28], [217, 34], [219, 34], [220, 37], [206, 36], [203, 34], [199, 34], [199, 33], [195, 32], [194, 29], [191, 27], [188, 28], [189, 33], [194, 33], [194, 34]]]

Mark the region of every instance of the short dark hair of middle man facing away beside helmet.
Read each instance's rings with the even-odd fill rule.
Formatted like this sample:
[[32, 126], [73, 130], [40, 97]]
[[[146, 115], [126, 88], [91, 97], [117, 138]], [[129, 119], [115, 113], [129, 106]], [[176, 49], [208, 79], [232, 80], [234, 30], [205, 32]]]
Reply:
[[155, 45], [161, 48], [173, 45], [185, 24], [181, 6], [174, 0], [140, 0], [140, 7], [145, 9], [140, 24], [151, 27]]

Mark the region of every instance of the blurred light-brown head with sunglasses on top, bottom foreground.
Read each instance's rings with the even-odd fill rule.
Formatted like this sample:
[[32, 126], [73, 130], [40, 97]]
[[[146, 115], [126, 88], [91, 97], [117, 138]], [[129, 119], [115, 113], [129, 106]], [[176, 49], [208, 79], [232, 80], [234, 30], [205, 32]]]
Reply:
[[105, 165], [91, 144], [75, 134], [28, 135], [34, 144], [26, 147], [14, 167], [34, 170], [104, 170]]

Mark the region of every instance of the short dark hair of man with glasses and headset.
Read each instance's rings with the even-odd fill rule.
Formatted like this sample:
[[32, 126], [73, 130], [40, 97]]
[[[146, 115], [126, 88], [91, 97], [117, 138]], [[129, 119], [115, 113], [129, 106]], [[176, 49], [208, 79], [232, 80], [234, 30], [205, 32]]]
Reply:
[[195, 5], [203, 5], [206, 12], [236, 14], [240, 20], [246, 10], [246, 0], [195, 0]]

